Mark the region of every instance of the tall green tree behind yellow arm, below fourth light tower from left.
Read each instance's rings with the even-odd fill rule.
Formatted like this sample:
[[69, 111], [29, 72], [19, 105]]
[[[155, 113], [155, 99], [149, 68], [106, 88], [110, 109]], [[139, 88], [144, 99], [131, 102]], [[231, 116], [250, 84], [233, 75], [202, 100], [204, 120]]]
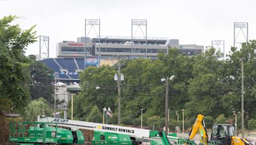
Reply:
[[222, 81], [224, 62], [219, 58], [214, 48], [195, 57], [193, 78], [189, 79], [188, 86], [189, 102], [185, 104], [188, 116], [202, 113], [215, 118], [223, 113], [221, 97], [227, 94], [228, 90]]

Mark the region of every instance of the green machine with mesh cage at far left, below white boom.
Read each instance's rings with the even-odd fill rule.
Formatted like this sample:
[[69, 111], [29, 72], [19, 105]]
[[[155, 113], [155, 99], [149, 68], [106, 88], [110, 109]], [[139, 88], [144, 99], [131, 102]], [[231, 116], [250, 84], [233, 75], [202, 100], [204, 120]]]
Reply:
[[57, 123], [11, 122], [9, 141], [20, 145], [83, 144], [84, 135], [80, 130], [58, 128]]

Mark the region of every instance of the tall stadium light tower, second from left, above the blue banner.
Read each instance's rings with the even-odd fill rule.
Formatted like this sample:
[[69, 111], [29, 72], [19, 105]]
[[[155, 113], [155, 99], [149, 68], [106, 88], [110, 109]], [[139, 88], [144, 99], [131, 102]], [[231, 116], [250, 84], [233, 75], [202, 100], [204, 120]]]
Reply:
[[[98, 26], [98, 32], [96, 31], [95, 27]], [[90, 27], [88, 34], [86, 33], [86, 27]], [[98, 63], [100, 66], [100, 19], [85, 19], [85, 26], [84, 26], [84, 69], [86, 68], [86, 38], [89, 36], [91, 30], [95, 32], [97, 37], [99, 38], [99, 46], [98, 46]], [[97, 44], [97, 43], [95, 43]]]

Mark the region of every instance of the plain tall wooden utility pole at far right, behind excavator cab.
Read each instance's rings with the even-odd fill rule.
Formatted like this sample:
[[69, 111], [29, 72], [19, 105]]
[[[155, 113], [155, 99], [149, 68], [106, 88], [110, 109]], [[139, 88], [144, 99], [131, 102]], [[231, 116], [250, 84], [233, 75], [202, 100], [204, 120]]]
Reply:
[[244, 62], [241, 60], [242, 88], [241, 88], [241, 120], [242, 120], [242, 138], [244, 138]]

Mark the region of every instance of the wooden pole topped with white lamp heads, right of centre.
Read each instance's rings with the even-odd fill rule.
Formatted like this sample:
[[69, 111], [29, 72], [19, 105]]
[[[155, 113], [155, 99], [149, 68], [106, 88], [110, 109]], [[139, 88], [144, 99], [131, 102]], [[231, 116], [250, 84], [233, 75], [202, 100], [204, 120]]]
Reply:
[[166, 93], [165, 93], [165, 134], [168, 134], [168, 102], [169, 102], [169, 82], [168, 80], [170, 79], [170, 81], [173, 80], [175, 76], [171, 76], [170, 78], [166, 77], [165, 78], [161, 78], [161, 81], [166, 81]]

